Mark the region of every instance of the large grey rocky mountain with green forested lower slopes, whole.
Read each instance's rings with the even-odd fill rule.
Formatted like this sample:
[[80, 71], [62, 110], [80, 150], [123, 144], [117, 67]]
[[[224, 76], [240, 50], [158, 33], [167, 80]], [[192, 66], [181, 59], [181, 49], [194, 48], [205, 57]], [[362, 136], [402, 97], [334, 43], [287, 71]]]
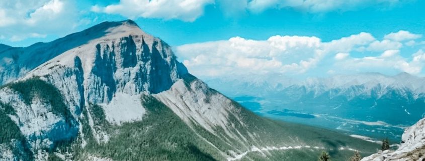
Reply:
[[131, 20], [0, 56], [0, 160], [311, 160], [322, 150], [342, 160], [379, 146], [255, 115]]

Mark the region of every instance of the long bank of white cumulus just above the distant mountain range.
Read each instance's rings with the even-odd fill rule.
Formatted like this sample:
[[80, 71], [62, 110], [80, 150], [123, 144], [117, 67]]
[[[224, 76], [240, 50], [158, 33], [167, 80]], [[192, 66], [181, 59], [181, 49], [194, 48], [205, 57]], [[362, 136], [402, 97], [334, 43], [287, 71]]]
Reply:
[[400, 54], [402, 48], [400, 42], [359, 33], [329, 42], [306, 36], [272, 36], [267, 40], [234, 37], [178, 46], [176, 53], [189, 71], [200, 77], [249, 73], [308, 75], [318, 71], [421, 73], [425, 53], [419, 50], [409, 56]]

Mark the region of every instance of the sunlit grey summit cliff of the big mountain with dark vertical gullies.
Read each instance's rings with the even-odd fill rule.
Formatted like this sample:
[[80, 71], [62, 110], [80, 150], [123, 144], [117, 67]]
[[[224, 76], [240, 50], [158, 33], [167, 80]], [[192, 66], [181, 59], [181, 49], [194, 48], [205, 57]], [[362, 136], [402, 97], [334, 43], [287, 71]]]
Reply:
[[110, 26], [104, 36], [46, 61], [27, 75], [66, 73], [48, 77], [50, 82], [61, 82], [57, 80], [75, 75], [87, 102], [107, 103], [116, 92], [140, 94], [167, 90], [187, 73], [171, 47], [144, 33], [134, 22], [100, 26]]

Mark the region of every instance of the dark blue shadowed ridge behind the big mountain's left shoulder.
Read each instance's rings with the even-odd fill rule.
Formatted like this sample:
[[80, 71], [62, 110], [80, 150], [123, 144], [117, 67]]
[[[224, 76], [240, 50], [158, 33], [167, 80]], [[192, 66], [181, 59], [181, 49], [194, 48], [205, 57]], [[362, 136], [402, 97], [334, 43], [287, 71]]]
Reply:
[[[70, 34], [49, 43], [36, 43], [29, 47], [9, 48], [2, 51], [0, 84], [9, 83], [26, 75], [30, 70], [65, 51], [87, 44], [93, 39], [105, 36], [111, 27], [120, 26], [119, 22], [105, 22], [90, 29]], [[6, 45], [5, 45], [6, 46]], [[0, 51], [4, 47], [0, 47]]]

